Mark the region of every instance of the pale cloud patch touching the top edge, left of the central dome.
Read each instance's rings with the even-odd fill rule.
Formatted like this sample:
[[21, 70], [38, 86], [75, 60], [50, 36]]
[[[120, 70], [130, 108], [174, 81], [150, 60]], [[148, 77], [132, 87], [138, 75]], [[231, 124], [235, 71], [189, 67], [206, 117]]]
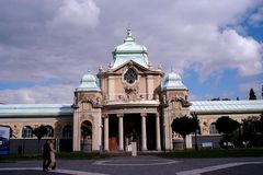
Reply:
[[99, 16], [100, 9], [94, 0], [64, 0], [62, 7], [58, 9], [49, 25], [61, 27], [61, 30], [65, 26], [95, 27], [100, 22]]

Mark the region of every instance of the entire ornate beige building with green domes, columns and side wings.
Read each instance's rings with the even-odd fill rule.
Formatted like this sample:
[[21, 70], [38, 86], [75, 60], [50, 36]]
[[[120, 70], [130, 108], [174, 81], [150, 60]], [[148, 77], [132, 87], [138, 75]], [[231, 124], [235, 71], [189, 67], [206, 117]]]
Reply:
[[181, 140], [171, 128], [176, 117], [195, 114], [201, 136], [218, 136], [218, 117], [241, 121], [263, 112], [263, 101], [190, 102], [181, 77], [153, 67], [129, 28], [112, 55], [108, 68], [83, 75], [73, 104], [1, 104], [0, 124], [12, 129], [13, 140], [34, 139], [33, 129], [44, 125], [47, 138], [59, 140], [61, 148], [71, 144], [72, 151], [130, 151], [132, 141], [140, 151], [161, 151]]

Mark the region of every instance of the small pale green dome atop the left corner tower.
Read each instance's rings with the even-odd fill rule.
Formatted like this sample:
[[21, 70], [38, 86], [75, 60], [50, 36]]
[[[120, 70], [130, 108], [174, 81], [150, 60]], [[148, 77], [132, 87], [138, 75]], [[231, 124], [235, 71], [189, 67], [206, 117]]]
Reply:
[[76, 91], [101, 91], [96, 84], [96, 78], [88, 71], [88, 74], [84, 74], [80, 81], [80, 86]]

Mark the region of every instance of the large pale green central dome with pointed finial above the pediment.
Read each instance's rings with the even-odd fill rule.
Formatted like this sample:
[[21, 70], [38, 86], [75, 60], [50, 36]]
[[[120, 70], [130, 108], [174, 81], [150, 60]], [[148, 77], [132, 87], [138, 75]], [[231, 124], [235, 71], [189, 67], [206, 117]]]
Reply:
[[115, 69], [129, 60], [133, 60], [145, 68], [149, 68], [147, 48], [135, 43], [130, 28], [127, 30], [124, 43], [115, 47], [113, 51], [113, 62], [111, 65], [112, 68]]

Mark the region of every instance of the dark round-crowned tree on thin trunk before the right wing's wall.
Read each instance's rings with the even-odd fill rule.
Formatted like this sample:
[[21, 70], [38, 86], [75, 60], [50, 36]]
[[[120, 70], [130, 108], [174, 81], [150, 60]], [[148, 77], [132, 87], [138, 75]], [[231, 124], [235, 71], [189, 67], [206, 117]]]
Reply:
[[220, 133], [224, 133], [224, 139], [226, 140], [228, 148], [229, 136], [239, 128], [239, 122], [228, 116], [222, 116], [216, 120], [215, 125], [216, 129]]

